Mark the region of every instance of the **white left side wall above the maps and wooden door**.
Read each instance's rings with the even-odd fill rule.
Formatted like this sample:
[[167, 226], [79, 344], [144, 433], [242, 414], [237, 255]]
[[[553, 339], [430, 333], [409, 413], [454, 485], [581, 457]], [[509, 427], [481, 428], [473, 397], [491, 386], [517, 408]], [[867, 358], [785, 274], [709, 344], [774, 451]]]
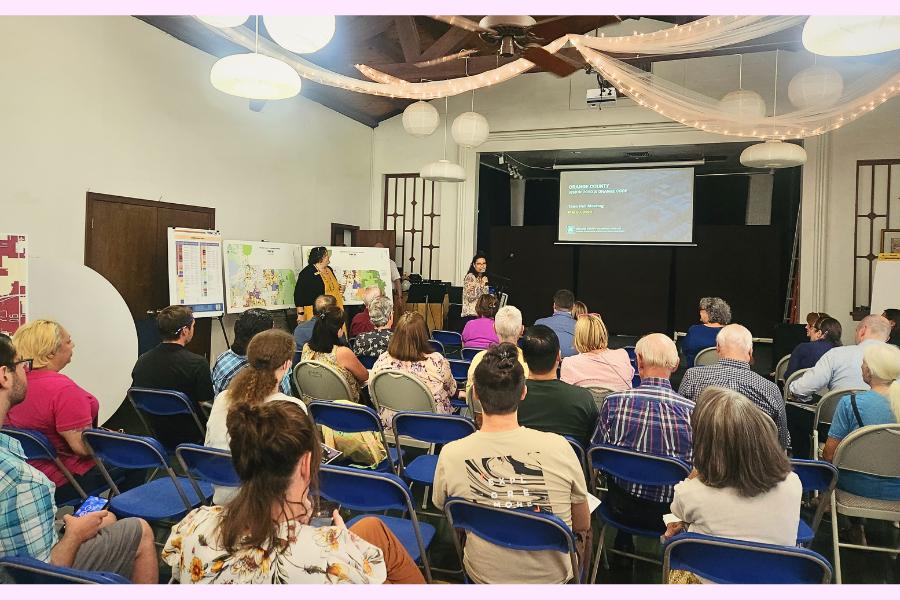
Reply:
[[0, 54], [0, 229], [33, 256], [82, 260], [88, 190], [215, 207], [226, 239], [368, 224], [371, 129], [302, 97], [252, 112], [133, 17], [0, 17]]

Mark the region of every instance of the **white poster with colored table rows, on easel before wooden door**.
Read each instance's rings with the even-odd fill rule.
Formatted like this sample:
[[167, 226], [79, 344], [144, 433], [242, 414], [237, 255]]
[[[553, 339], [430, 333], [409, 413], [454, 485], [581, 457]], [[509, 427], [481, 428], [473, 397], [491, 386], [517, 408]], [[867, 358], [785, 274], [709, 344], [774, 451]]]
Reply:
[[222, 236], [218, 231], [169, 227], [169, 303], [194, 309], [195, 317], [225, 310]]

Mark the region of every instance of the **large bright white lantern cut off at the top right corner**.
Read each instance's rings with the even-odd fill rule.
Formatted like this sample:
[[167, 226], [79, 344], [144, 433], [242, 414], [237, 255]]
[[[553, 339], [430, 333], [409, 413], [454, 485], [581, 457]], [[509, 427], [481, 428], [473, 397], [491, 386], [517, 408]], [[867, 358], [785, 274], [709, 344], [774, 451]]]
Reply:
[[813, 15], [803, 47], [822, 56], [865, 56], [900, 48], [900, 16]]

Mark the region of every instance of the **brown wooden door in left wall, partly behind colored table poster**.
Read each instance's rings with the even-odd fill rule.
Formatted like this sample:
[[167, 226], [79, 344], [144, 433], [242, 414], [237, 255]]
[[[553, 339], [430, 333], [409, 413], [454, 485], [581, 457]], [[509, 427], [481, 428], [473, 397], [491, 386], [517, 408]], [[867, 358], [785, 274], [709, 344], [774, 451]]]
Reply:
[[[107, 279], [134, 319], [169, 305], [169, 227], [215, 229], [215, 209], [88, 192], [84, 264]], [[197, 319], [187, 348], [209, 358], [212, 319]]]

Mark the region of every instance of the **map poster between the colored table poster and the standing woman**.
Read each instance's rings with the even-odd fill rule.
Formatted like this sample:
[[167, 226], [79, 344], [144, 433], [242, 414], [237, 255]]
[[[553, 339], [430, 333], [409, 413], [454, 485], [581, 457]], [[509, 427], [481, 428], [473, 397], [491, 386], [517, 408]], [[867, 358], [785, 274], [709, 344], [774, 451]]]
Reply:
[[297, 244], [225, 240], [225, 310], [294, 307]]

